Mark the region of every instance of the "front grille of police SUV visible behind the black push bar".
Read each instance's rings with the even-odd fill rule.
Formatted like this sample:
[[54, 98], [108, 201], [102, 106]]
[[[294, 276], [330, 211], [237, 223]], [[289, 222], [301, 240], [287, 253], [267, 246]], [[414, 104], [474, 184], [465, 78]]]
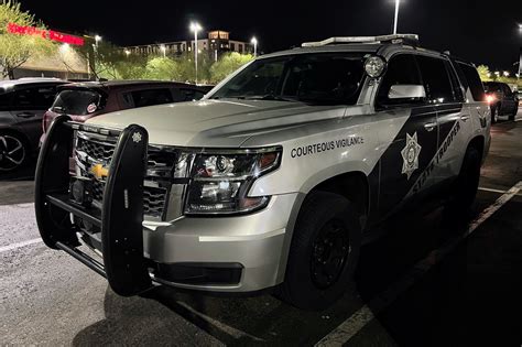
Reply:
[[[115, 142], [116, 143], [116, 142]], [[81, 163], [78, 173], [93, 181], [91, 196], [95, 205], [101, 206], [104, 199], [105, 181], [97, 180], [89, 171], [94, 163], [102, 163], [105, 166], [110, 165], [112, 155], [115, 154], [115, 144], [109, 142], [98, 142], [77, 137], [76, 142], [76, 160]], [[148, 154], [148, 178], [143, 188], [143, 213], [146, 216], [156, 218], [163, 217], [163, 212], [168, 202], [168, 188], [160, 185], [155, 178], [160, 178], [160, 174], [168, 174], [172, 172], [176, 162], [175, 152], [160, 151], [150, 149]], [[159, 174], [159, 176], [155, 176]], [[146, 183], [150, 183], [149, 185]], [[150, 186], [151, 183], [154, 186]]]

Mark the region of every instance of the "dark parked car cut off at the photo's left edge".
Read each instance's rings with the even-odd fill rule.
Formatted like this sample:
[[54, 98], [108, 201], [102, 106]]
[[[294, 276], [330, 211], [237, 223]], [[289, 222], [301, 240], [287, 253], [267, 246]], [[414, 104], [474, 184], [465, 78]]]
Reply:
[[42, 117], [66, 84], [56, 78], [0, 82], [0, 174], [22, 166], [39, 148]]

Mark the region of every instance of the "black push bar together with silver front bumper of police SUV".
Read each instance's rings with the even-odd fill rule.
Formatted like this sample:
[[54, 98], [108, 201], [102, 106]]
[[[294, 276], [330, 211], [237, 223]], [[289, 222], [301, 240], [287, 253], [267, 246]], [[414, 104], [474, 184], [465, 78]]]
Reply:
[[[69, 155], [75, 130], [118, 135], [101, 212], [70, 196]], [[123, 131], [96, 129], [58, 117], [40, 153], [35, 175], [35, 209], [44, 242], [62, 249], [106, 276], [120, 295], [135, 295], [153, 283], [177, 288], [254, 292], [279, 284], [284, 276], [286, 226], [296, 194], [272, 196], [267, 208], [246, 216], [180, 217], [170, 223], [144, 221], [143, 180], [148, 133], [138, 126]], [[78, 247], [75, 218], [97, 228], [88, 242], [102, 262]], [[196, 279], [195, 276], [198, 276]], [[208, 281], [206, 281], [208, 279]]]

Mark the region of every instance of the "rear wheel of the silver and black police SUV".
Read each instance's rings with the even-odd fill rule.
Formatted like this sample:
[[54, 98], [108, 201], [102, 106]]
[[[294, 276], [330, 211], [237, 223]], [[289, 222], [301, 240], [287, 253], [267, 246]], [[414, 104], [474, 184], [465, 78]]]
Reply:
[[464, 156], [463, 166], [454, 186], [454, 195], [446, 205], [448, 216], [466, 218], [477, 195], [481, 153], [475, 147], [468, 148]]

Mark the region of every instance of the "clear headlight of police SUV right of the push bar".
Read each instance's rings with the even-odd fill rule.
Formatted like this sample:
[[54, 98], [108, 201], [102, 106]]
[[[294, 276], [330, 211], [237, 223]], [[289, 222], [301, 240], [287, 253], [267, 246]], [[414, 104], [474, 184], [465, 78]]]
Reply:
[[191, 170], [185, 214], [238, 214], [263, 208], [269, 196], [248, 197], [252, 182], [275, 170], [281, 149], [199, 153]]

